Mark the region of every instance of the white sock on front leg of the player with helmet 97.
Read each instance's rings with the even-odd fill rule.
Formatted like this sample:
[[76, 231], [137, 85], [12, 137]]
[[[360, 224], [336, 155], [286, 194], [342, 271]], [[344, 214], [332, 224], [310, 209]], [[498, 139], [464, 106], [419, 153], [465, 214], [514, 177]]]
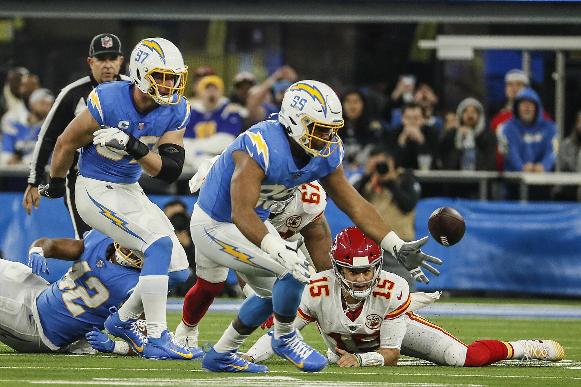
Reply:
[[144, 305], [147, 335], [157, 339], [167, 329], [167, 275], [142, 275], [139, 277], [141, 301]]

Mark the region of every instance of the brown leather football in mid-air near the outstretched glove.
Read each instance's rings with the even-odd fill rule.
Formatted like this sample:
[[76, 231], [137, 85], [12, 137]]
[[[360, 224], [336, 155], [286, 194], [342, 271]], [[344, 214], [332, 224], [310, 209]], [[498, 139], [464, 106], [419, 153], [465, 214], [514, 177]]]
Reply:
[[460, 242], [466, 224], [459, 212], [451, 207], [440, 207], [428, 219], [428, 230], [440, 245], [451, 246]]

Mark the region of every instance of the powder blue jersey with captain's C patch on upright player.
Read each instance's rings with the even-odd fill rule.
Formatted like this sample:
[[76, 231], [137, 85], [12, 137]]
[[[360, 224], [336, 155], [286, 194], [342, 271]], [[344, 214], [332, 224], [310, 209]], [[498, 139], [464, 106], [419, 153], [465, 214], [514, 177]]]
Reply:
[[[114, 81], [93, 89], [87, 97], [87, 107], [99, 125], [119, 128], [151, 149], [165, 132], [185, 128], [188, 124], [191, 110], [187, 98], [182, 97], [177, 105], [159, 106], [142, 114], [135, 109], [133, 88], [131, 81]], [[96, 180], [133, 183], [139, 180], [143, 170], [123, 150], [91, 142], [81, 149], [78, 171]]]

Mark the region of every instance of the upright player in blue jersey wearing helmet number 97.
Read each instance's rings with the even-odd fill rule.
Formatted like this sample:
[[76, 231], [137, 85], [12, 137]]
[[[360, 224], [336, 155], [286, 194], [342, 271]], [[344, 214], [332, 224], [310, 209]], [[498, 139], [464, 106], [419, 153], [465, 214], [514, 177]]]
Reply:
[[[135, 291], [105, 322], [107, 331], [146, 359], [192, 360], [202, 351], [175, 342], [166, 322], [168, 285], [188, 278], [188, 260], [170, 221], [137, 182], [142, 171], [166, 183], [181, 174], [190, 115], [183, 96], [188, 67], [173, 43], [149, 38], [131, 52], [129, 74], [131, 81], [103, 83], [89, 94], [87, 108], [59, 136], [51, 181], [38, 191], [51, 199], [63, 196], [74, 150], [81, 148], [78, 213], [145, 262]], [[146, 342], [135, 334], [144, 311]]]

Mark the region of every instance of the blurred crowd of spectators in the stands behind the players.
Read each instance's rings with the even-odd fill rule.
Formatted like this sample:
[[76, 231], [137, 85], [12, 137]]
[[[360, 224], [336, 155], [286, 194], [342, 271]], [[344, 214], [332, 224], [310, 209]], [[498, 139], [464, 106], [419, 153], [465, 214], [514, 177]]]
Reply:
[[[224, 80], [211, 67], [192, 72], [188, 83], [192, 114], [184, 144], [185, 166], [193, 168], [220, 154], [246, 128], [275, 119], [285, 89], [299, 79], [289, 66], [262, 83], [242, 71], [227, 80], [232, 83], [227, 97]], [[581, 171], [581, 112], [559, 152], [557, 128], [521, 70], [506, 74], [507, 103], [490, 121], [475, 98], [464, 99], [456, 112], [440, 115], [432, 87], [416, 85], [411, 75], [400, 76], [383, 103], [356, 88], [338, 94], [345, 118], [339, 131], [345, 144], [345, 169], [357, 171], [352, 181], [362, 175], [368, 182], [373, 180], [370, 159], [380, 156], [391, 160], [388, 165], [393, 163], [385, 173], [390, 176], [401, 175], [397, 173], [401, 169], [543, 173], [554, 170], [557, 158], [561, 170]], [[0, 98], [0, 164], [27, 164], [53, 102], [52, 92], [41, 88], [34, 74], [21, 67], [8, 73]]]

